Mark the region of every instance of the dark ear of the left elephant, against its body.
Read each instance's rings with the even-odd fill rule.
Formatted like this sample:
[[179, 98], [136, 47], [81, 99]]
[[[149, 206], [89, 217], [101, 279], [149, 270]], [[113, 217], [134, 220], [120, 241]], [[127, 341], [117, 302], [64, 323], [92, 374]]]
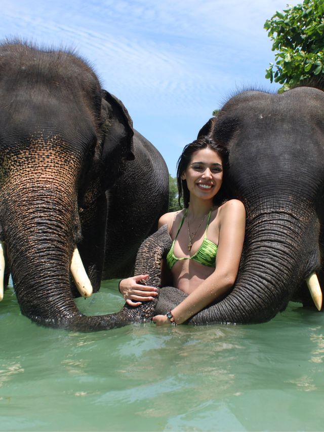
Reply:
[[134, 131], [123, 102], [106, 90], [101, 90], [101, 95], [102, 181], [107, 189], [123, 173], [125, 162], [135, 159]]

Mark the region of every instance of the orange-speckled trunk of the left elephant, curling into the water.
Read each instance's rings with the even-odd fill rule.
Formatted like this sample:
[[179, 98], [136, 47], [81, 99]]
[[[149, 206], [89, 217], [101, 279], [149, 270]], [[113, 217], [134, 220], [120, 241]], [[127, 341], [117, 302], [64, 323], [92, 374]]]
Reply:
[[74, 303], [70, 265], [80, 234], [72, 176], [60, 172], [49, 181], [45, 171], [33, 171], [32, 177], [11, 178], [1, 187], [0, 218], [23, 315], [45, 326], [75, 331], [128, 324], [123, 316], [84, 316]]

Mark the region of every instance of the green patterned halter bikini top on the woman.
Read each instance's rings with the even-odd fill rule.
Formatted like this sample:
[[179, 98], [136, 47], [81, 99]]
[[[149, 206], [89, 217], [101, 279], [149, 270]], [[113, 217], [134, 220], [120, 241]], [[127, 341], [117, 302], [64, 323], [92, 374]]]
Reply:
[[170, 251], [169, 251], [169, 253], [167, 255], [168, 266], [171, 269], [177, 261], [180, 261], [182, 259], [193, 259], [194, 261], [197, 261], [197, 262], [199, 262], [200, 264], [203, 264], [203, 265], [207, 265], [208, 267], [216, 267], [215, 260], [216, 260], [216, 255], [217, 255], [217, 249], [218, 249], [218, 247], [217, 247], [217, 245], [215, 245], [215, 243], [213, 243], [213, 242], [211, 242], [210, 240], [207, 239], [207, 229], [208, 229], [208, 226], [209, 226], [209, 221], [210, 221], [210, 218], [211, 218], [212, 210], [210, 210], [209, 214], [208, 214], [207, 226], [206, 226], [206, 230], [205, 230], [205, 235], [204, 235], [203, 243], [201, 243], [200, 248], [197, 250], [197, 252], [194, 255], [190, 256], [190, 257], [177, 258], [175, 256], [175, 254], [173, 252], [173, 250], [174, 250], [174, 244], [175, 244], [175, 242], [177, 240], [179, 231], [180, 231], [180, 229], [181, 229], [181, 227], [183, 225], [183, 222], [185, 220], [185, 217], [187, 216], [187, 213], [188, 213], [188, 209], [186, 210], [186, 212], [185, 212], [185, 214], [184, 214], [184, 216], [182, 218], [182, 221], [181, 221], [180, 226], [179, 226], [178, 231], [177, 231], [177, 235], [176, 235], [176, 237], [175, 237], [175, 239], [174, 239], [174, 241], [172, 243], [171, 249], [170, 249]]

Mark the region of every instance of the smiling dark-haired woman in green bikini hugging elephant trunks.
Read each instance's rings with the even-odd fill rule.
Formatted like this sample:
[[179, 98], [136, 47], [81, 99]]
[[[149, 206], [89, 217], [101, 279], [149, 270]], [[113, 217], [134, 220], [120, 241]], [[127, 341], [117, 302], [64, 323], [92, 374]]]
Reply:
[[[162, 286], [171, 283], [187, 294], [166, 315], [153, 322], [181, 324], [223, 297], [235, 282], [245, 234], [245, 208], [238, 200], [225, 200], [227, 152], [211, 138], [188, 144], [179, 160], [179, 201], [184, 209], [161, 216], [158, 227], [168, 226], [173, 241], [162, 263]], [[139, 284], [147, 275], [122, 280], [120, 292], [138, 306], [157, 295], [155, 287]]]

